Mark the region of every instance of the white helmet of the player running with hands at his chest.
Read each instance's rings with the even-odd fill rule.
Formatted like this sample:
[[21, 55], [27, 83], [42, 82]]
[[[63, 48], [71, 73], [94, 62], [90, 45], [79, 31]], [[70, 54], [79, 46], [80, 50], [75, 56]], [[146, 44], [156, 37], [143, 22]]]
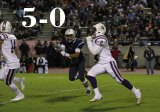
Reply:
[[97, 23], [96, 25], [93, 25], [93, 28], [95, 29], [95, 36], [104, 35], [106, 33], [106, 27], [102, 23]]

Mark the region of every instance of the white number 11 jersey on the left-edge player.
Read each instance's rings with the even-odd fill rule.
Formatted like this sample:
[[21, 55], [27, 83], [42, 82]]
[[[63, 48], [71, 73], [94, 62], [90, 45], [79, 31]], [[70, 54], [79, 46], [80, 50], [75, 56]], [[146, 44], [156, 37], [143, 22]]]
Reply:
[[17, 38], [12, 34], [1, 33], [0, 40], [2, 43], [2, 55], [6, 59], [6, 65], [10, 69], [16, 69], [20, 67], [19, 59], [15, 53]]

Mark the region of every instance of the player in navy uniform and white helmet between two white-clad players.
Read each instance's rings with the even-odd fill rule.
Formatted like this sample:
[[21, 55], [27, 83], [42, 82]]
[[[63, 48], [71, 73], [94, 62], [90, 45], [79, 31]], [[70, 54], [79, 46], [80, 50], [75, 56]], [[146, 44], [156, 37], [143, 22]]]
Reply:
[[82, 52], [84, 42], [81, 39], [75, 38], [73, 29], [68, 29], [65, 32], [65, 40], [61, 42], [61, 54], [71, 60], [69, 67], [69, 80], [74, 81], [79, 79], [87, 90], [91, 93], [88, 85], [88, 80], [85, 78], [85, 57]]

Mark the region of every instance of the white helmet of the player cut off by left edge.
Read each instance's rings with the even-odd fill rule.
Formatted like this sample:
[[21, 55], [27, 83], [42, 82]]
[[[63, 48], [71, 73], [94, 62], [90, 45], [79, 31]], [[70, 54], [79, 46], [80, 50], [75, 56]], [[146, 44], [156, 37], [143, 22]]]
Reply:
[[0, 24], [0, 32], [2, 33], [11, 33], [12, 31], [12, 25], [9, 21], [3, 21]]

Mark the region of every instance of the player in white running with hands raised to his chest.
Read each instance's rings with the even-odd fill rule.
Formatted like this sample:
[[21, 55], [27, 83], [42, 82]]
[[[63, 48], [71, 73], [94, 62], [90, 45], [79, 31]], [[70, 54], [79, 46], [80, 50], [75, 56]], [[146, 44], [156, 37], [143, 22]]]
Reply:
[[95, 33], [93, 36], [88, 36], [86, 38], [87, 46], [93, 55], [99, 54], [99, 61], [87, 73], [88, 80], [90, 81], [95, 93], [95, 96], [90, 101], [93, 102], [102, 99], [95, 77], [107, 72], [118, 83], [131, 90], [137, 98], [137, 104], [140, 104], [140, 90], [136, 89], [128, 80], [122, 77], [117, 67], [117, 63], [110, 53], [108, 39], [105, 36], [106, 27], [102, 23], [98, 23], [94, 25], [93, 28], [95, 29]]

